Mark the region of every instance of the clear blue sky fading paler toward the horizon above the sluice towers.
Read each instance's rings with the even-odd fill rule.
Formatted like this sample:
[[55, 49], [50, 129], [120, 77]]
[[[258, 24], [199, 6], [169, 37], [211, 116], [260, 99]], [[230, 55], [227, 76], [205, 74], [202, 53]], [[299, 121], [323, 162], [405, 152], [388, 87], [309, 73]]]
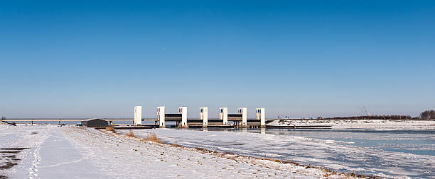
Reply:
[[435, 1], [1, 1], [6, 117], [418, 115]]

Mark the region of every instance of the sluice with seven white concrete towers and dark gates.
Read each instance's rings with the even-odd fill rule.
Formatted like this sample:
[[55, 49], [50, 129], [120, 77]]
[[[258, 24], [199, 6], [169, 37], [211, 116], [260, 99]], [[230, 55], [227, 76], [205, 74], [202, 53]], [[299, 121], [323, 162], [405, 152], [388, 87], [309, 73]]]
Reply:
[[[218, 119], [208, 118], [208, 108], [199, 108], [199, 119], [188, 119], [187, 107], [178, 108], [178, 113], [165, 112], [164, 106], [157, 107], [156, 125], [166, 127], [165, 122], [176, 122], [176, 127], [266, 127], [264, 108], [255, 110], [255, 119], [247, 118], [247, 108], [239, 108], [237, 113], [228, 114], [228, 108], [219, 108]], [[229, 122], [232, 122], [230, 124]], [[142, 107], [134, 107], [134, 125], [142, 125]]]

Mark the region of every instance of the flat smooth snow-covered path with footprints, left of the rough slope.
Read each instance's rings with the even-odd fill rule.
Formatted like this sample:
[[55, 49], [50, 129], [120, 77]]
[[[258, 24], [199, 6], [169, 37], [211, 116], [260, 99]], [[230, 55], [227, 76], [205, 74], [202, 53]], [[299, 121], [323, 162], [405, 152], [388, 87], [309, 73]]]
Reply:
[[[93, 167], [87, 158], [80, 155], [80, 149], [75, 148], [65, 139], [63, 129], [56, 125], [1, 127], [1, 149], [16, 147], [28, 149], [19, 151], [14, 157], [15, 166], [0, 170], [0, 175], [8, 178], [100, 178], [104, 176], [102, 172], [96, 173], [98, 168]], [[5, 162], [7, 161], [0, 161], [0, 165]]]

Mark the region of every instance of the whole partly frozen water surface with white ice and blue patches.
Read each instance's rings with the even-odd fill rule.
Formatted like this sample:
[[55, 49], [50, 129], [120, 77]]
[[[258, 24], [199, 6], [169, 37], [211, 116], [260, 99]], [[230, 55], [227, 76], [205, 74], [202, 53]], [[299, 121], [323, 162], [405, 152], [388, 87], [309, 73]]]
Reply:
[[[143, 129], [161, 140], [384, 178], [435, 178], [435, 130]], [[128, 131], [120, 131], [128, 132]]]

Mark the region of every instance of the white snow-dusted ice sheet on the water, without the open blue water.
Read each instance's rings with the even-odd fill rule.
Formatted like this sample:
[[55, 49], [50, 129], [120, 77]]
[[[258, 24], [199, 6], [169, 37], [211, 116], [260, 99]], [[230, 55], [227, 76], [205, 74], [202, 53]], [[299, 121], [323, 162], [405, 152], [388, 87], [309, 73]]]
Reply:
[[[128, 132], [128, 131], [120, 131]], [[298, 131], [286, 133], [284, 130], [272, 130], [277, 134], [259, 134], [248, 131], [199, 131], [185, 129], [144, 129], [135, 130], [136, 136], [145, 137], [155, 133], [165, 142], [181, 146], [202, 147], [205, 149], [232, 152], [245, 156], [285, 159], [298, 163], [323, 166], [345, 173], [363, 173], [391, 178], [431, 178], [435, 175], [435, 157], [424, 154], [404, 153], [402, 151], [386, 151], [349, 145], [330, 139], [316, 139], [299, 135]], [[293, 133], [292, 133], [293, 132]], [[282, 133], [282, 134], [281, 134]], [[310, 132], [311, 133], [311, 132]], [[325, 133], [330, 134], [330, 133]], [[385, 135], [370, 133], [344, 132], [340, 135], [379, 138], [382, 142]], [[433, 140], [435, 134], [429, 134], [425, 140]], [[389, 134], [390, 138], [419, 140], [413, 134]], [[387, 138], [385, 140], [390, 140]], [[387, 143], [387, 142], [385, 142]], [[385, 144], [382, 144], [385, 145]], [[398, 144], [400, 145], [400, 144]], [[393, 146], [394, 147], [394, 146]], [[435, 146], [426, 146], [434, 148]]]

